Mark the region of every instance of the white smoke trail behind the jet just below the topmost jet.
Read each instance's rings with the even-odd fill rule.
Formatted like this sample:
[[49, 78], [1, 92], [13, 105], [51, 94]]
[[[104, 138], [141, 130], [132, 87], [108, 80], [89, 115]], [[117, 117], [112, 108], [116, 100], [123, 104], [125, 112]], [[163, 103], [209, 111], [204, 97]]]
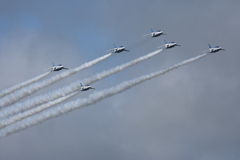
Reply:
[[75, 92], [75, 91], [79, 90], [79, 86], [80, 86], [79, 83], [80, 82], [83, 82], [84, 84], [91, 84], [91, 83], [96, 82], [98, 80], [101, 80], [101, 79], [103, 79], [107, 76], [110, 76], [114, 73], [122, 71], [122, 70], [124, 70], [124, 69], [126, 69], [126, 68], [128, 68], [132, 65], [135, 65], [135, 64], [137, 64], [137, 63], [139, 63], [143, 60], [151, 58], [151, 57], [157, 55], [158, 53], [160, 53], [161, 51], [162, 51], [162, 49], [157, 50], [157, 51], [152, 52], [152, 53], [149, 53], [145, 56], [142, 56], [142, 57], [139, 57], [139, 58], [137, 58], [135, 60], [132, 60], [130, 62], [124, 63], [120, 66], [116, 66], [116, 67], [114, 67], [112, 69], [109, 69], [107, 71], [97, 73], [93, 76], [90, 76], [89, 78], [85, 78], [83, 80], [73, 82], [70, 85], [67, 85], [67, 86], [59, 88], [57, 90], [48, 92], [44, 95], [37, 96], [37, 97], [32, 98], [30, 100], [27, 100], [23, 103], [16, 103], [12, 106], [9, 106], [8, 108], [2, 109], [1, 112], [0, 112], [0, 118], [15, 114], [15, 113], [20, 112], [20, 111], [24, 111], [26, 109], [30, 109], [30, 108], [35, 107], [37, 105], [47, 103], [48, 101], [52, 101], [56, 98], [68, 95], [72, 92]]

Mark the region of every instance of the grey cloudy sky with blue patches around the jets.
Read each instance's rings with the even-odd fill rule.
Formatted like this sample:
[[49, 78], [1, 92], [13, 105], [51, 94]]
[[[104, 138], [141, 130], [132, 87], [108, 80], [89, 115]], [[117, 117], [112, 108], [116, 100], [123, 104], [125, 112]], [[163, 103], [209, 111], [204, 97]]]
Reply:
[[[164, 39], [181, 47], [92, 86], [102, 90], [166, 68], [209, 43], [226, 49], [1, 138], [0, 159], [239, 160], [239, 6], [238, 0], [0, 0], [0, 89], [44, 73], [52, 62], [74, 68], [113, 44], [131, 50], [28, 98], [155, 51]], [[150, 28], [167, 35], [144, 39]]]

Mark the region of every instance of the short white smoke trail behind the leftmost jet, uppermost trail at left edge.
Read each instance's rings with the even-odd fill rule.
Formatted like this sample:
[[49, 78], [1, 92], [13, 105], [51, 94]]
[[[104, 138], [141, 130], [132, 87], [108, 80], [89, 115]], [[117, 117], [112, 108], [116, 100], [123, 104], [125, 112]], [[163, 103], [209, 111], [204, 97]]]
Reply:
[[29, 85], [31, 83], [34, 83], [34, 82], [36, 82], [36, 81], [46, 77], [49, 73], [50, 72], [43, 73], [43, 74], [41, 74], [41, 75], [39, 75], [37, 77], [34, 77], [32, 79], [29, 79], [29, 80], [25, 81], [25, 82], [22, 82], [22, 83], [19, 83], [19, 84], [15, 85], [15, 86], [10, 87], [10, 88], [1, 90], [0, 91], [0, 98], [6, 96], [6, 95], [8, 95], [8, 94], [10, 94], [10, 93], [12, 93], [12, 92], [14, 92], [16, 90], [18, 90], [18, 89], [20, 89], [22, 87], [25, 87], [25, 86], [27, 86], [27, 85]]

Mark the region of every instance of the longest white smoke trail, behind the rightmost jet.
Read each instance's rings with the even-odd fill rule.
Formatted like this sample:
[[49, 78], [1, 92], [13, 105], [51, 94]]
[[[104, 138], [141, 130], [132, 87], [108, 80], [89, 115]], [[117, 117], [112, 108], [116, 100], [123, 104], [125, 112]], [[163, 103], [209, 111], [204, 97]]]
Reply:
[[141, 76], [138, 78], [134, 78], [134, 79], [131, 79], [128, 81], [124, 81], [124, 82], [118, 84], [117, 86], [111, 87], [109, 89], [104, 89], [102, 91], [94, 92], [94, 93], [90, 94], [87, 98], [77, 99], [75, 101], [71, 101], [71, 102], [65, 103], [63, 105], [57, 106], [55, 108], [52, 108], [50, 110], [45, 110], [37, 115], [28, 117], [28, 118], [26, 118], [22, 121], [19, 121], [13, 125], [7, 126], [3, 130], [0, 130], [0, 137], [10, 135], [12, 133], [18, 132], [25, 128], [28, 128], [28, 127], [31, 127], [38, 123], [41, 123], [50, 118], [58, 117], [62, 114], [71, 112], [75, 109], [80, 109], [82, 107], [86, 107], [88, 105], [95, 104], [104, 98], [121, 93], [127, 89], [130, 89], [131, 87], [133, 87], [137, 84], [140, 84], [146, 80], [150, 80], [151, 78], [157, 77], [159, 75], [163, 75], [171, 70], [177, 69], [180, 66], [186, 65], [186, 64], [196, 61], [200, 58], [203, 58], [206, 55], [207, 55], [207, 53], [199, 55], [197, 57], [194, 57], [194, 58], [185, 60], [181, 63], [175, 64], [172, 67], [169, 67], [169, 68], [157, 71], [157, 72], [153, 72], [151, 74], [144, 75], [144, 76]]

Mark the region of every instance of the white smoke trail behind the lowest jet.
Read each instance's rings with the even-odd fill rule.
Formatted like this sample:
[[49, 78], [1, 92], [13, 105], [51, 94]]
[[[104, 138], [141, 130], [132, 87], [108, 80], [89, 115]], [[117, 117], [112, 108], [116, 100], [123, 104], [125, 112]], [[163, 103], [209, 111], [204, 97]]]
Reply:
[[17, 122], [17, 121], [20, 121], [20, 120], [22, 120], [22, 119], [24, 119], [24, 118], [27, 118], [27, 117], [29, 117], [29, 116], [32, 116], [32, 115], [34, 115], [34, 114], [36, 114], [36, 113], [39, 113], [39, 112], [41, 112], [41, 111], [43, 111], [43, 110], [45, 110], [45, 109], [48, 109], [48, 108], [50, 108], [50, 107], [52, 107], [52, 106], [54, 106], [54, 105], [57, 105], [57, 104], [65, 101], [65, 100], [67, 100], [67, 99], [75, 96], [77, 93], [78, 93], [78, 92], [74, 92], [74, 93], [69, 94], [69, 95], [67, 95], [67, 96], [65, 96], [65, 97], [61, 97], [61, 98], [56, 99], [56, 100], [54, 100], [54, 101], [50, 101], [50, 102], [48, 102], [48, 103], [46, 103], [46, 104], [43, 104], [43, 105], [41, 105], [41, 106], [38, 106], [38, 107], [36, 107], [36, 108], [32, 108], [32, 109], [27, 110], [27, 111], [25, 111], [25, 112], [18, 113], [18, 114], [16, 114], [16, 115], [12, 116], [12, 117], [4, 118], [4, 119], [2, 119], [2, 120], [0, 121], [0, 129], [6, 127], [7, 125], [10, 125], [10, 124], [12, 124], [12, 123], [15, 123], [15, 122]]

